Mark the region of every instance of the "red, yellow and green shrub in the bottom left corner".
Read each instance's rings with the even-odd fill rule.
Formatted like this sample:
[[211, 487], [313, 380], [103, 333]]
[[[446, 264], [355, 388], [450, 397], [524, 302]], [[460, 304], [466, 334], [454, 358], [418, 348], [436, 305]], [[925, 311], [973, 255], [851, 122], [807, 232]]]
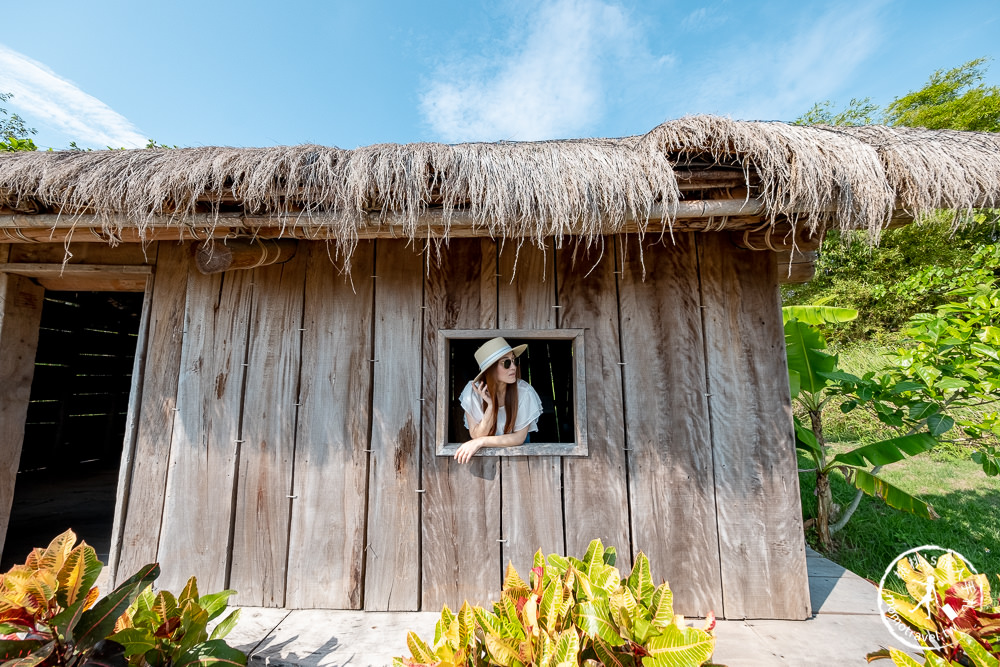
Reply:
[[[4, 667], [246, 664], [243, 653], [219, 644], [235, 624], [233, 616], [219, 625], [212, 640], [205, 634], [205, 624], [225, 610], [232, 591], [199, 598], [192, 578], [181, 594], [182, 604], [178, 607], [174, 600], [171, 608], [172, 595], [152, 593], [160, 567], [151, 563], [98, 599], [94, 582], [103, 568], [93, 547], [76, 544], [76, 535], [67, 530], [45, 549], [34, 549], [24, 565], [0, 574]], [[147, 609], [150, 599], [161, 606]], [[140, 633], [151, 627], [153, 644], [140, 650]]]

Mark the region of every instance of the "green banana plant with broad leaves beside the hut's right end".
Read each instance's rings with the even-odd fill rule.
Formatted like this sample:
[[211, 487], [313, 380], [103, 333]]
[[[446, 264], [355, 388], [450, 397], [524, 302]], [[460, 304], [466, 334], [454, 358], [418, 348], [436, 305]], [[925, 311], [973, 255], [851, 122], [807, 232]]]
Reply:
[[[921, 454], [937, 444], [937, 436], [954, 426], [944, 414], [947, 400], [928, 397], [922, 386], [892, 373], [857, 377], [839, 369], [838, 357], [827, 350], [822, 323], [849, 321], [857, 311], [830, 306], [786, 306], [785, 346], [792, 400], [808, 418], [794, 418], [796, 447], [813, 461], [816, 475], [815, 526], [820, 545], [829, 550], [833, 534], [857, 509], [862, 494], [882, 499], [890, 507], [935, 518], [933, 507], [878, 476], [882, 466]], [[866, 408], [887, 426], [903, 429], [898, 437], [829, 455], [823, 433], [824, 411], [837, 401], [842, 412]], [[926, 431], [924, 429], [927, 429]], [[830, 474], [839, 470], [857, 493], [839, 518], [834, 517]]]

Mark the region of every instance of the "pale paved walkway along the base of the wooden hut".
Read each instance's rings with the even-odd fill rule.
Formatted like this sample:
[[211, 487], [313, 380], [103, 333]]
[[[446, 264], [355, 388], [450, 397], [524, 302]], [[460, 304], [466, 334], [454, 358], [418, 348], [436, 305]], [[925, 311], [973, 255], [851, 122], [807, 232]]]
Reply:
[[[719, 621], [713, 660], [730, 667], [865, 665], [896, 645], [879, 619], [875, 586], [809, 551], [813, 617], [806, 621]], [[406, 632], [434, 636], [434, 612], [358, 612], [246, 607], [229, 643], [251, 667], [384, 667], [403, 655]]]

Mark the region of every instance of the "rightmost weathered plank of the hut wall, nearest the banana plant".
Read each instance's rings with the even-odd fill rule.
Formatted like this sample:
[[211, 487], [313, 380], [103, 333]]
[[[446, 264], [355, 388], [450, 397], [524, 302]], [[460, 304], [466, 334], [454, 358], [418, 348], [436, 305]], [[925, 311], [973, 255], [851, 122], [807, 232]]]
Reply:
[[810, 614], [778, 277], [766, 253], [698, 239], [726, 618]]

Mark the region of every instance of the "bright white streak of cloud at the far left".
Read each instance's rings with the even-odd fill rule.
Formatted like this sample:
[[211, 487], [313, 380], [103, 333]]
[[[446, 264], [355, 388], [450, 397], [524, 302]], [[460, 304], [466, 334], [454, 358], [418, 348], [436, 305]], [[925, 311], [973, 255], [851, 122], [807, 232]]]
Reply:
[[81, 146], [146, 145], [127, 118], [40, 62], [0, 45], [0, 92], [14, 93], [8, 103], [29, 125], [51, 128]]

